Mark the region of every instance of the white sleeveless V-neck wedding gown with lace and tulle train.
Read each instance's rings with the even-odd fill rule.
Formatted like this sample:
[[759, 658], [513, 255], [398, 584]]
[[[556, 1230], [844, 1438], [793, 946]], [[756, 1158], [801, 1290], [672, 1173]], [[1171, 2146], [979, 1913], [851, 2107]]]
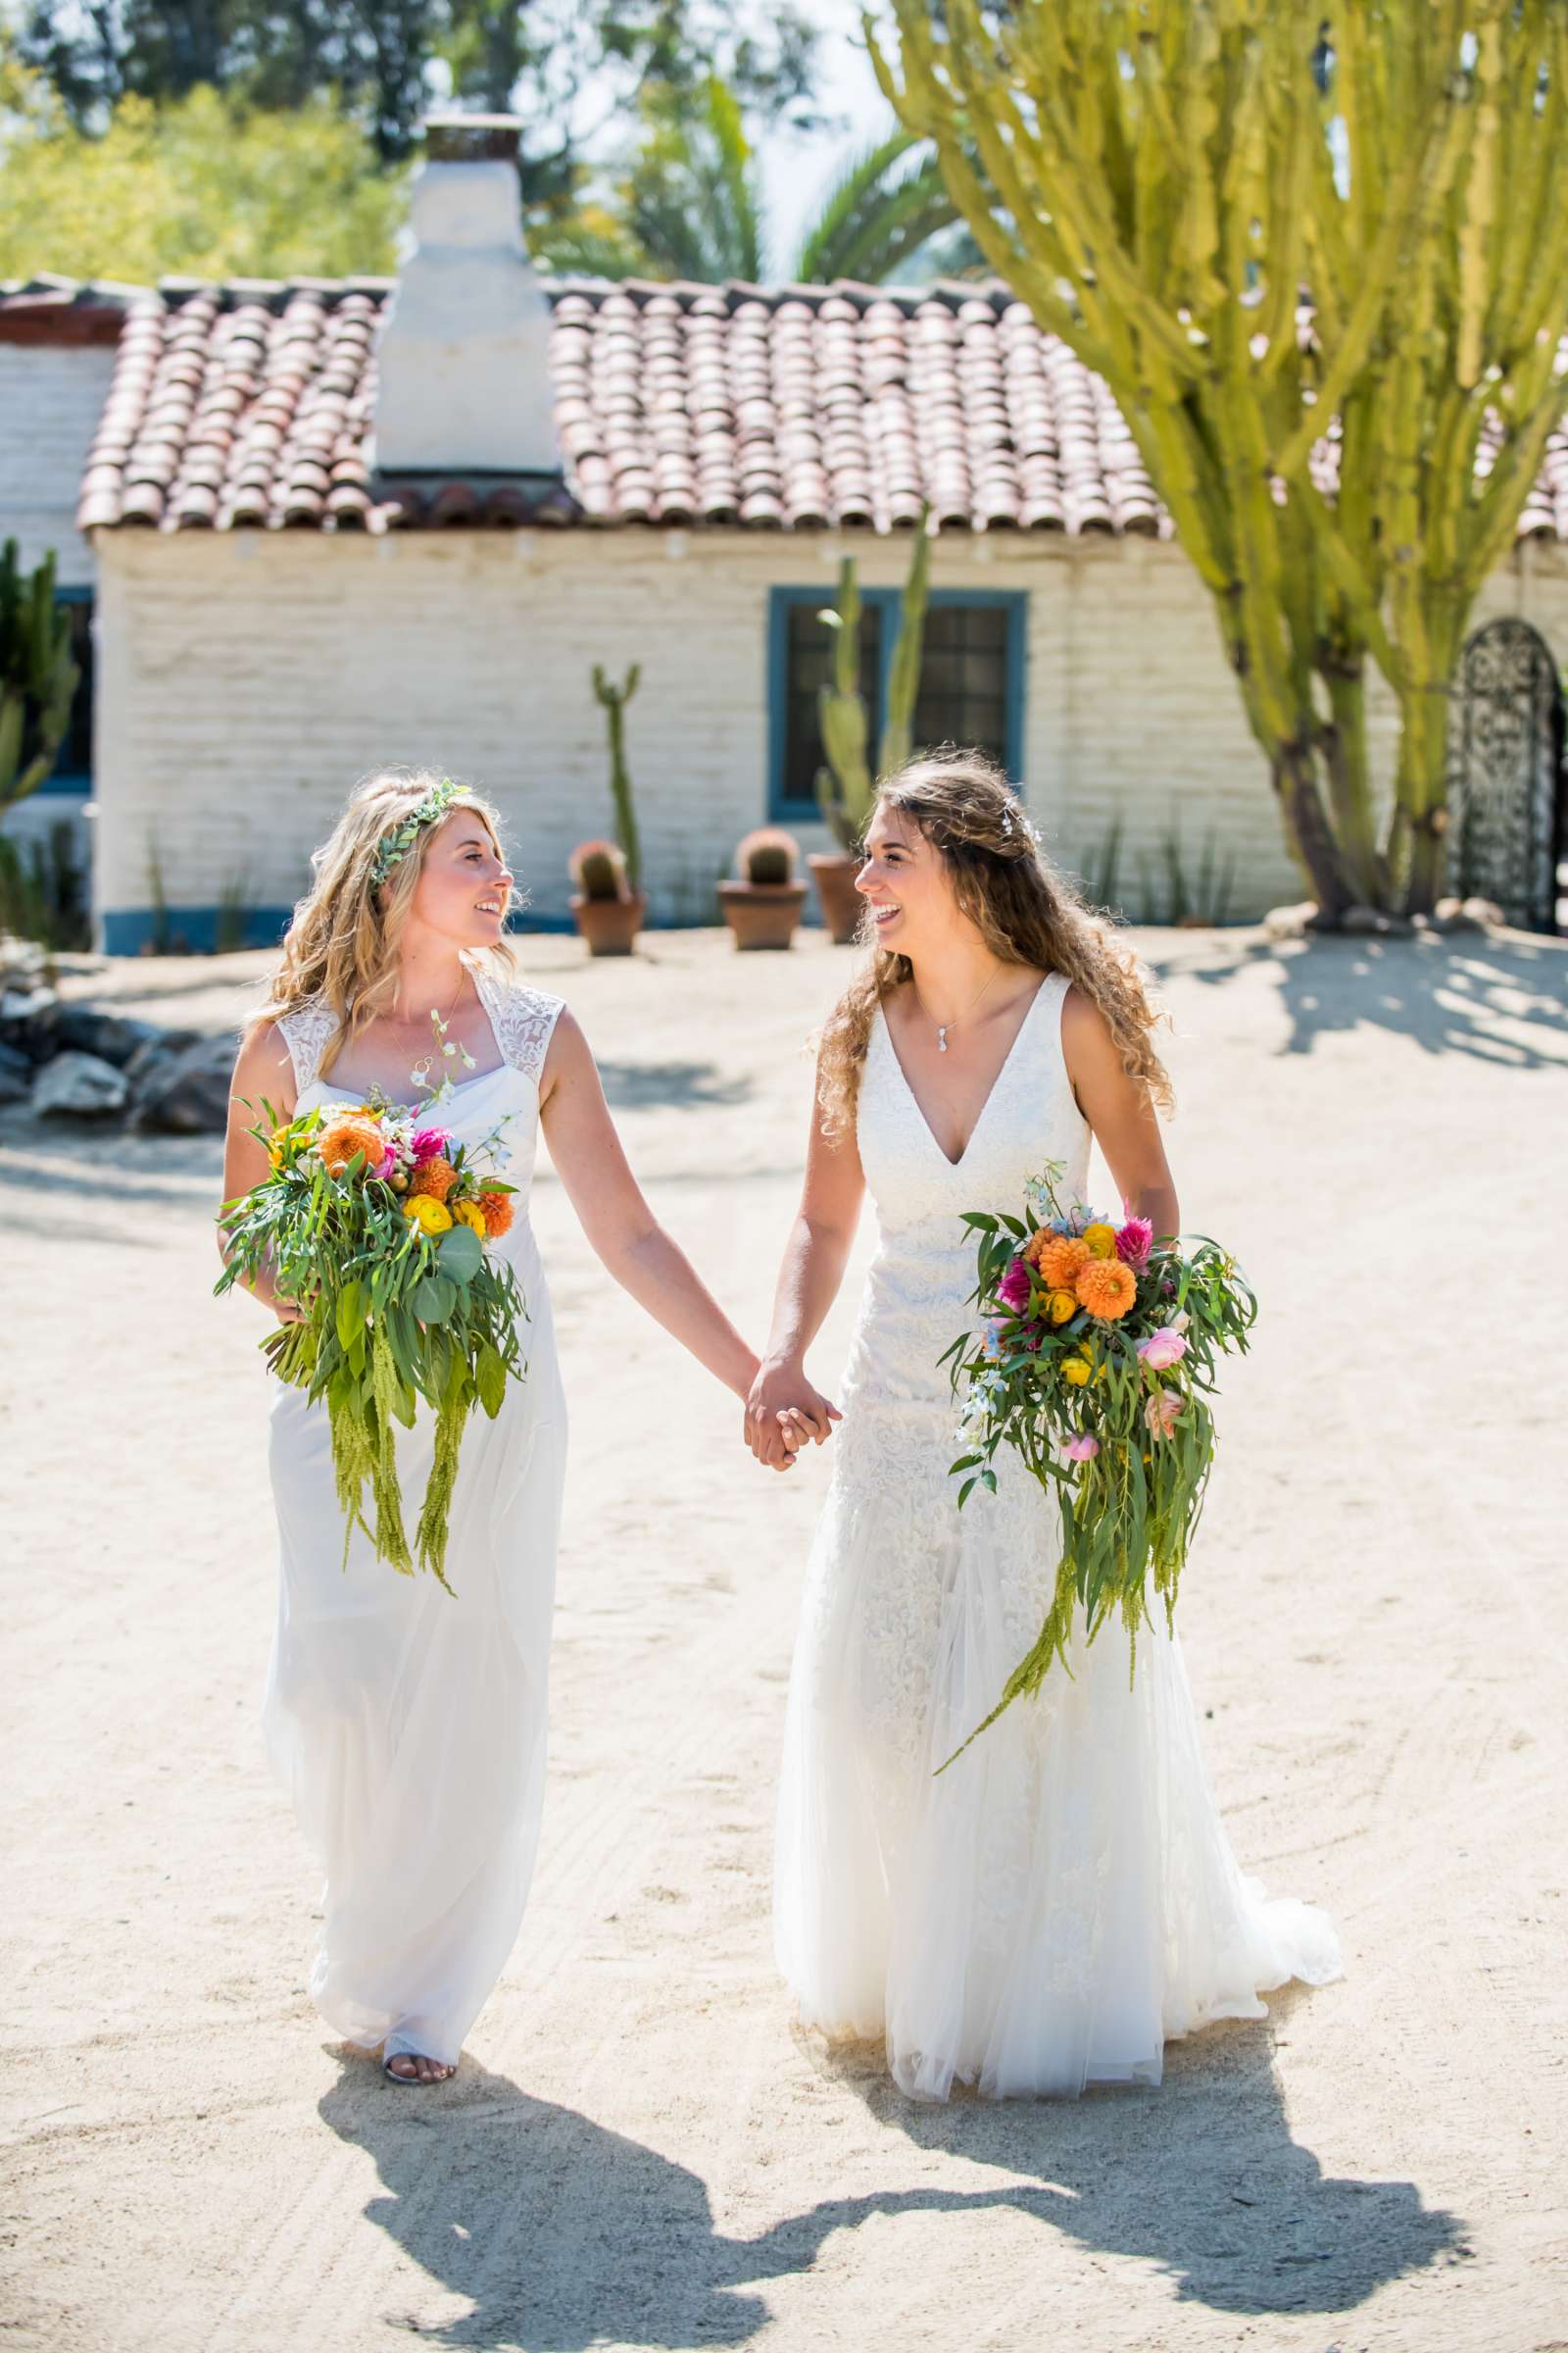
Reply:
[[790, 1685], [776, 1944], [811, 2026], [884, 2038], [898, 2085], [994, 2099], [1159, 2082], [1166, 2038], [1262, 2017], [1260, 1988], [1340, 1974], [1321, 1911], [1267, 1899], [1229, 1849], [1180, 1645], [1107, 1624], [954, 1765], [1056, 1586], [1056, 1508], [1001, 1449], [957, 1511], [938, 1355], [973, 1327], [964, 1209], [1023, 1207], [1088, 1127], [1046, 976], [964, 1158], [936, 1144], [877, 1014], [858, 1144], [879, 1247], [832, 1438]]

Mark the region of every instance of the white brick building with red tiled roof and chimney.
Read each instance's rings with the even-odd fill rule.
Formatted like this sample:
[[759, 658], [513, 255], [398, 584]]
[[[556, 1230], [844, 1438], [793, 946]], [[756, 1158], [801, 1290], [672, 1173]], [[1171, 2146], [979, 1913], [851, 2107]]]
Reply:
[[[96, 642], [92, 748], [85, 696], [12, 824], [92, 795], [106, 948], [209, 946], [226, 906], [275, 939], [383, 762], [489, 791], [524, 920], [564, 922], [567, 856], [611, 824], [590, 671], [632, 661], [651, 915], [712, 920], [755, 824], [825, 847], [816, 616], [853, 553], [877, 725], [922, 496], [917, 739], [997, 751], [1079, 871], [1119, 824], [1131, 911], [1171, 828], [1190, 871], [1213, 838], [1229, 915], [1300, 896], [1126, 426], [1004, 289], [541, 285], [510, 167], [435, 155], [400, 287], [0, 294], [0, 532], [56, 548]], [[1483, 612], [1568, 652], [1540, 499]]]

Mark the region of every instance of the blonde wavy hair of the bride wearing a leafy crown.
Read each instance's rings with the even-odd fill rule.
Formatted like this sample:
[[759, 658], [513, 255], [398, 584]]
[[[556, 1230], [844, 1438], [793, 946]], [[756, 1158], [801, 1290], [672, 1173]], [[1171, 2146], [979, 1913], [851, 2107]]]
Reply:
[[[310, 889], [294, 908], [282, 941], [282, 965], [268, 984], [266, 1005], [249, 1016], [247, 1035], [263, 1021], [277, 1021], [280, 1014], [320, 1000], [339, 1016], [336, 1033], [320, 1061], [320, 1071], [327, 1075], [350, 1038], [357, 1038], [378, 1014], [390, 1012], [397, 998], [402, 934], [409, 925], [430, 840], [440, 833], [444, 816], [454, 809], [473, 809], [494, 840], [496, 854], [503, 854], [501, 812], [482, 793], [463, 786], [442, 816], [421, 828], [414, 849], [393, 866], [386, 882], [376, 885], [376, 849], [440, 781], [435, 769], [388, 767], [364, 776], [353, 788], [336, 826], [310, 854]], [[505, 941], [480, 953], [498, 979], [510, 979], [517, 972], [517, 958]], [[473, 969], [473, 953], [465, 955], [465, 962]]]

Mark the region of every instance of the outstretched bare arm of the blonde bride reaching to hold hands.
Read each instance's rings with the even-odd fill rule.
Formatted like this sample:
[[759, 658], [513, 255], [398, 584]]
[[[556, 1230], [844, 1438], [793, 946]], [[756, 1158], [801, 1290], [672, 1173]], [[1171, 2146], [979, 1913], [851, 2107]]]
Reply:
[[757, 1355], [642, 1198], [588, 1040], [567, 1012], [555, 1024], [541, 1073], [538, 1125], [597, 1259], [654, 1322], [743, 1398]]

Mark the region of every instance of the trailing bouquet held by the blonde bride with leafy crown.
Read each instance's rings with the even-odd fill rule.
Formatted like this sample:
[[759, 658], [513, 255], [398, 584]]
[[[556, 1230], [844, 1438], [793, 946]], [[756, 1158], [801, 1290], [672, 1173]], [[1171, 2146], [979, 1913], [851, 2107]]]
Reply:
[[[268, 1273], [301, 1320], [263, 1339], [273, 1372], [327, 1400], [331, 1466], [343, 1506], [343, 1560], [355, 1525], [404, 1577], [418, 1565], [447, 1586], [447, 1518], [463, 1426], [501, 1412], [508, 1374], [522, 1379], [517, 1278], [487, 1242], [512, 1224], [515, 1186], [484, 1146], [456, 1144], [433, 1104], [414, 1111], [371, 1096], [277, 1125], [263, 1101], [252, 1134], [270, 1174], [223, 1202], [226, 1266], [216, 1292]], [[435, 1409], [435, 1459], [414, 1553], [402, 1520], [393, 1424]], [[374, 1527], [364, 1518], [369, 1480]], [[447, 1586], [451, 1591], [451, 1586]]]

